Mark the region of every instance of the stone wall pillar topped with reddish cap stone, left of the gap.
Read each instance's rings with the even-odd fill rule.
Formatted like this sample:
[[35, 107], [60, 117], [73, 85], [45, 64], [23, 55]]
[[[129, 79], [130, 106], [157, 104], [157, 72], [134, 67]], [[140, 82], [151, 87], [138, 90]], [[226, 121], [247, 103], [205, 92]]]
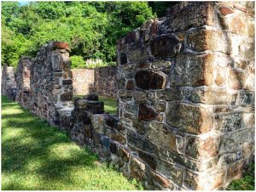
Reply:
[[52, 125], [73, 110], [73, 81], [66, 42], [49, 42], [32, 59], [31, 109]]

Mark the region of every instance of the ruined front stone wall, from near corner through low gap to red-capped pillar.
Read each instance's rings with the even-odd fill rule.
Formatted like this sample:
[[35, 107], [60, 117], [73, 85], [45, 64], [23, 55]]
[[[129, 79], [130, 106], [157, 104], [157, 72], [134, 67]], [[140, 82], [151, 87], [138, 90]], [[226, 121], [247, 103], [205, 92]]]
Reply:
[[32, 59], [30, 107], [146, 189], [224, 189], [254, 154], [253, 8], [182, 2], [131, 31], [118, 116], [95, 94], [73, 102], [67, 43], [50, 42]]

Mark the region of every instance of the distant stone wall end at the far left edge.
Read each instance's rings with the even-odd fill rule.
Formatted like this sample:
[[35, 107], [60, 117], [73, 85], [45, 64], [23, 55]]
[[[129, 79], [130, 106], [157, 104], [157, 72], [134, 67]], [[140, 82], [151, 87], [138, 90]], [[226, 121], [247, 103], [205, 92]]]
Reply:
[[2, 66], [2, 82], [1, 92], [9, 99], [15, 101], [16, 98], [16, 83], [15, 83], [15, 69], [12, 66]]

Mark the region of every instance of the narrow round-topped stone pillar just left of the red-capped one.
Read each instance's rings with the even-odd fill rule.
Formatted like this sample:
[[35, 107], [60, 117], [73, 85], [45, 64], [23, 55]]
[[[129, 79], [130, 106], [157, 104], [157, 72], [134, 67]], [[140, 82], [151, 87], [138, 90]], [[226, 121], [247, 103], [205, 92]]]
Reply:
[[30, 68], [31, 59], [23, 57], [15, 72], [15, 82], [17, 84], [16, 101], [23, 107], [29, 108], [30, 105]]

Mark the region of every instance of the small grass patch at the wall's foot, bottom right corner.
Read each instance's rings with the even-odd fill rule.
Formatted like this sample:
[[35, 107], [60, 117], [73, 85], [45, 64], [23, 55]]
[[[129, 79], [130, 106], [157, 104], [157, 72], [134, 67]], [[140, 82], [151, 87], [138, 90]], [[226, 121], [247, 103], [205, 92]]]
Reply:
[[246, 172], [241, 179], [232, 181], [228, 186], [227, 190], [254, 190], [255, 179], [254, 179], [254, 164], [249, 164]]

